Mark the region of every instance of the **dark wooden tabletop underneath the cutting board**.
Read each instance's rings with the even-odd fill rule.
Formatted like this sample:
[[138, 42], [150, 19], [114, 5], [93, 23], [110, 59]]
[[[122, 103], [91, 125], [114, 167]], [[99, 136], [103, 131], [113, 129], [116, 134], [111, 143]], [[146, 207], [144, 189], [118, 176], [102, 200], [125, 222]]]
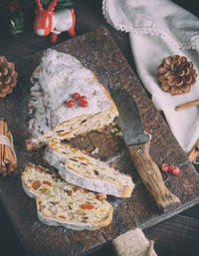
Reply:
[[[175, 1], [195, 15], [199, 16], [197, 4], [193, 0], [186, 3]], [[101, 13], [101, 1], [97, 0], [76, 0], [75, 12], [77, 17], [76, 33], [82, 35], [89, 31], [95, 30], [100, 26], [105, 26], [114, 39], [117, 47], [136, 73], [133, 58], [130, 52], [128, 36], [125, 33], [117, 32], [110, 27], [104, 20]], [[0, 21], [0, 56], [6, 56], [10, 61], [19, 60], [22, 57], [34, 54], [40, 50], [51, 47], [48, 38], [40, 38], [33, 33], [34, 14], [30, 13], [26, 19], [26, 28], [24, 33], [14, 38], [9, 35], [3, 21]], [[69, 40], [67, 33], [63, 33], [58, 38], [57, 43]], [[199, 165], [195, 164], [199, 171]], [[25, 256], [26, 253], [20, 244], [18, 237], [9, 222], [9, 218], [0, 202], [0, 255], [17, 255]], [[168, 220], [165, 220], [151, 228], [144, 230], [149, 239], [155, 241], [155, 250], [159, 256], [196, 256], [199, 255], [199, 205], [190, 208]], [[113, 256], [114, 253], [111, 245], [107, 243], [97, 252], [91, 252], [90, 255], [107, 254]]]

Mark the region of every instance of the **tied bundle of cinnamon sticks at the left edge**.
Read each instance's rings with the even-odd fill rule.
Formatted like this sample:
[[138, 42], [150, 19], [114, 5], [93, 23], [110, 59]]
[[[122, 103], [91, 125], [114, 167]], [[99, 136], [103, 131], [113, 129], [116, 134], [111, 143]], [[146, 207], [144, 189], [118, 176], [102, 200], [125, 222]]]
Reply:
[[12, 134], [7, 123], [0, 119], [0, 173], [3, 176], [10, 174], [17, 167], [17, 158], [13, 146]]

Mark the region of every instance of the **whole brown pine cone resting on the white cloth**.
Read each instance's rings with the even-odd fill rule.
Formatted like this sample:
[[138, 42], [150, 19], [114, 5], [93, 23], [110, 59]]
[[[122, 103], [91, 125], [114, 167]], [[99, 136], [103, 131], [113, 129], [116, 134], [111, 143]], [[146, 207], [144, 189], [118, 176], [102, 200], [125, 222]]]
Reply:
[[196, 82], [197, 73], [193, 63], [184, 56], [174, 55], [163, 59], [158, 67], [158, 80], [161, 89], [171, 95], [187, 94]]

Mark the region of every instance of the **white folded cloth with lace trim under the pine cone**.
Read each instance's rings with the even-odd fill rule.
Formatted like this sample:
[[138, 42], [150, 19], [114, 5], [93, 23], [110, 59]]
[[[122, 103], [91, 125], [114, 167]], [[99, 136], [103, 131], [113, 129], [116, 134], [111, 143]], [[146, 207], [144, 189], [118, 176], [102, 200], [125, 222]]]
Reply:
[[169, 0], [103, 0], [103, 15], [116, 30], [129, 32], [136, 71], [158, 111], [188, 152], [199, 138], [199, 107], [176, 112], [199, 99], [199, 76], [188, 94], [171, 96], [159, 87], [158, 66], [168, 56], [186, 56], [199, 75], [199, 19]]

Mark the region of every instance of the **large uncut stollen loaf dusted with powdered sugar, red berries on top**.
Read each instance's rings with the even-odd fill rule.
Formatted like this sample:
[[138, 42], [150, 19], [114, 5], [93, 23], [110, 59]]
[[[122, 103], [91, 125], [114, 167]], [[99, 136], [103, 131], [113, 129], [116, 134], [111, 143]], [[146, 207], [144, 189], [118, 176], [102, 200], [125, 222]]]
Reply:
[[[93, 129], [100, 130], [118, 116], [95, 74], [71, 55], [47, 50], [31, 82], [29, 150], [55, 138], [71, 139]], [[87, 108], [78, 101], [73, 108], [67, 107], [67, 100], [75, 93], [87, 97]]]

